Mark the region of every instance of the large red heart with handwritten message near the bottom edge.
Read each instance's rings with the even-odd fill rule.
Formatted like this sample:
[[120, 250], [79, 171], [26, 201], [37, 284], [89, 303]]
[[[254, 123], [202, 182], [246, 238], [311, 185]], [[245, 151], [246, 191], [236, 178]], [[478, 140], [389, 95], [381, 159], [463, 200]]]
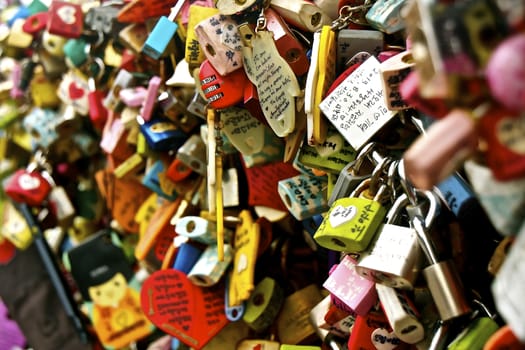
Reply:
[[224, 289], [196, 286], [178, 270], [155, 271], [142, 285], [140, 300], [153, 324], [196, 349], [228, 323]]

